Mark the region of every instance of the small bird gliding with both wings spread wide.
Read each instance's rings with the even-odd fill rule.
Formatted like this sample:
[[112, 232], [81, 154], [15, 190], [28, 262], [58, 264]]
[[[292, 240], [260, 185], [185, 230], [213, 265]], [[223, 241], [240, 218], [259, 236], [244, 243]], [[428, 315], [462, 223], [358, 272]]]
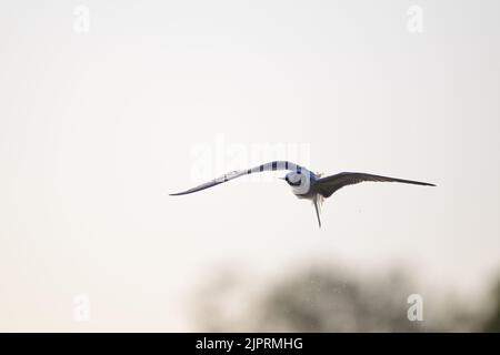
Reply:
[[314, 205], [316, 209], [316, 215], [318, 216], [318, 224], [320, 227], [321, 227], [320, 205], [323, 199], [330, 197], [336, 191], [342, 189], [343, 186], [358, 184], [363, 181], [399, 182], [413, 185], [436, 186], [434, 184], [430, 184], [427, 182], [380, 176], [366, 173], [342, 172], [339, 174], [321, 178], [320, 174], [314, 174], [310, 170], [297, 165], [294, 163], [288, 161], [273, 161], [248, 170], [236, 170], [220, 178], [217, 178], [212, 181], [209, 181], [204, 184], [201, 184], [199, 186], [178, 193], [172, 193], [170, 195], [171, 196], [186, 195], [189, 193], [213, 187], [216, 185], [219, 185], [221, 183], [228, 182], [230, 180], [243, 175], [259, 173], [263, 171], [278, 171], [278, 170], [289, 171], [289, 173], [287, 173], [284, 178], [280, 179], [284, 180], [290, 185], [293, 194], [297, 197], [312, 201], [312, 204]]

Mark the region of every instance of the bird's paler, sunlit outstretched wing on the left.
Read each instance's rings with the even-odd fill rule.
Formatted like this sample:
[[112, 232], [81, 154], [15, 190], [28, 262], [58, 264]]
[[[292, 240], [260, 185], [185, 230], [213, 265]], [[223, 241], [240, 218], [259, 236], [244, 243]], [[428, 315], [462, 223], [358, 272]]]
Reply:
[[309, 170], [307, 170], [303, 166], [297, 165], [294, 163], [291, 163], [288, 161], [273, 161], [273, 162], [261, 164], [259, 166], [254, 166], [254, 168], [248, 169], [248, 170], [236, 170], [236, 171], [229, 172], [227, 174], [223, 174], [222, 176], [217, 178], [212, 181], [206, 182], [204, 184], [201, 184], [199, 186], [189, 189], [183, 192], [171, 193], [170, 195], [171, 196], [186, 195], [188, 193], [193, 193], [193, 192], [198, 192], [198, 191], [201, 191], [204, 189], [209, 189], [209, 187], [219, 185], [223, 182], [227, 182], [227, 181], [230, 181], [230, 180], [243, 176], [243, 175], [259, 173], [259, 172], [263, 172], [263, 171], [276, 171], [276, 170], [289, 170], [289, 171], [309, 173]]

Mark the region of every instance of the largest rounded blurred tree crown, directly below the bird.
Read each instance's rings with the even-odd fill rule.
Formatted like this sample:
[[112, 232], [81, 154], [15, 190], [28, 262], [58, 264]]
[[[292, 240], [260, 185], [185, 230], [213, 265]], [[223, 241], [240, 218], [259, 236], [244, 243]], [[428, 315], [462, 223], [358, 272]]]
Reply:
[[259, 304], [259, 328], [286, 332], [418, 332], [407, 317], [411, 294], [399, 274], [356, 281], [312, 270], [270, 290]]

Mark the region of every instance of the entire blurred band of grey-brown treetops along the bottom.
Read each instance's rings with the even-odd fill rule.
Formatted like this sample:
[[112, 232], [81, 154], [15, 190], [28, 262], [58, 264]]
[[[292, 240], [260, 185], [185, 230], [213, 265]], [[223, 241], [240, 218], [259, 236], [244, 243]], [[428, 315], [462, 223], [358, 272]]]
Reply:
[[[479, 302], [418, 290], [401, 270], [360, 277], [322, 265], [276, 282], [226, 273], [199, 290], [194, 322], [208, 332], [500, 332], [500, 282]], [[414, 293], [422, 322], [407, 315]]]

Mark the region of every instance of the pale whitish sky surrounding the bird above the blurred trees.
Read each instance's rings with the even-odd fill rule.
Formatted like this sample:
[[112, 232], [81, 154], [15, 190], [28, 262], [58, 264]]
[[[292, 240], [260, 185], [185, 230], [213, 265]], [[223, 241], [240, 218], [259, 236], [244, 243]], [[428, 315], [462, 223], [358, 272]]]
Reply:
[[[499, 13], [2, 1], [0, 329], [192, 329], [186, 300], [221, 267], [312, 260], [478, 293], [500, 270]], [[168, 195], [273, 159], [438, 187], [347, 187], [321, 230], [280, 180]]]

